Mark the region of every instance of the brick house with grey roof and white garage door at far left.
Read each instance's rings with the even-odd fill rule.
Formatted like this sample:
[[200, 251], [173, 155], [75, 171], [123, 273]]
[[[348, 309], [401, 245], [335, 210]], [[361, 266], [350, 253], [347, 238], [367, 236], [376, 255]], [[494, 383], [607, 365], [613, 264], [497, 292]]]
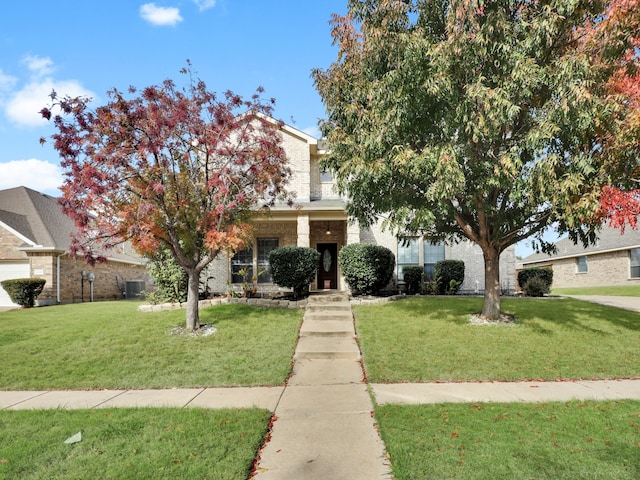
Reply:
[[[69, 256], [75, 226], [58, 200], [17, 187], [0, 191], [0, 281], [44, 278], [38, 305], [118, 299], [139, 293], [149, 282], [145, 262], [123, 248], [107, 262], [90, 266]], [[90, 281], [91, 280], [91, 281]], [[12, 306], [0, 287], [0, 306]]]

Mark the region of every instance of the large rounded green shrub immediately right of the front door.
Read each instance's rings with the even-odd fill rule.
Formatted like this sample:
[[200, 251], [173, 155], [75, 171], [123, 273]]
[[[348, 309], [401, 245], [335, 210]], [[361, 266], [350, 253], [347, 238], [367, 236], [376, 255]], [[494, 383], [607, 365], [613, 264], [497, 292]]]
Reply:
[[393, 277], [396, 258], [391, 250], [369, 243], [345, 245], [338, 254], [342, 274], [352, 290], [375, 295]]

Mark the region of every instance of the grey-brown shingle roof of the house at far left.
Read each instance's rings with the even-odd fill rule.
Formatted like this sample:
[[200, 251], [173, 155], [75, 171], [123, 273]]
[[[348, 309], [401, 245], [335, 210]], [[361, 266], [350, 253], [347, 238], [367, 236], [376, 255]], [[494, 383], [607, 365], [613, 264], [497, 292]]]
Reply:
[[[22, 238], [24, 244], [20, 248], [29, 251], [68, 252], [71, 235], [76, 230], [73, 220], [62, 212], [57, 198], [27, 187], [0, 190], [0, 224]], [[144, 263], [139, 255], [127, 253], [123, 248], [110, 250], [105, 257], [119, 262]]]

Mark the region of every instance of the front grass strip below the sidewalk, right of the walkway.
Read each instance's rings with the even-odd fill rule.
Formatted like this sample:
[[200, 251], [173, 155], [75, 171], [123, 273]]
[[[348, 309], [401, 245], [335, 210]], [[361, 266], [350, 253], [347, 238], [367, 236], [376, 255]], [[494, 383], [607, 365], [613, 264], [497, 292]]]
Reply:
[[640, 402], [376, 410], [396, 480], [640, 478]]

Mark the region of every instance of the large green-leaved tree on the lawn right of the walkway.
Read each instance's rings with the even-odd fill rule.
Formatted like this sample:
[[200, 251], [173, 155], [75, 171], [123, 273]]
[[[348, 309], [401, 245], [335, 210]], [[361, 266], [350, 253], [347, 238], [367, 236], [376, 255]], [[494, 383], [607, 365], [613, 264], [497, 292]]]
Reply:
[[604, 85], [629, 40], [620, 31], [601, 39], [612, 48], [589, 48], [585, 32], [607, 15], [604, 1], [348, 7], [332, 20], [338, 58], [313, 77], [327, 108], [327, 161], [350, 214], [478, 244], [482, 314], [498, 318], [505, 249], [526, 238], [550, 248], [542, 234], [551, 225], [595, 238], [583, 220], [598, 208], [609, 156], [601, 140], [629, 108]]

